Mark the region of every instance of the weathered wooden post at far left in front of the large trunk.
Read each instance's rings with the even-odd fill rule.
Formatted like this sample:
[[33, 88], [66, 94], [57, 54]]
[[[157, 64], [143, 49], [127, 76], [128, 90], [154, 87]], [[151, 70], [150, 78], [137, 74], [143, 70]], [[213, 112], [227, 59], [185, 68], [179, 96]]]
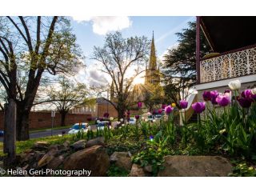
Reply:
[[16, 158], [16, 103], [10, 99], [5, 104], [5, 123], [4, 123], [4, 153], [7, 154], [5, 166], [11, 166]]

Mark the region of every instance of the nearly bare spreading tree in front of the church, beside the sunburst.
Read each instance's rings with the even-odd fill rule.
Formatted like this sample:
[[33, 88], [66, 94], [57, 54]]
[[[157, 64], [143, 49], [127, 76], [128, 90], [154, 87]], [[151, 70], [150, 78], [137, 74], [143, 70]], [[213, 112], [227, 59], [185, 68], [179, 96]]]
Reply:
[[[102, 72], [113, 81], [116, 103], [110, 102], [118, 111], [118, 119], [123, 118], [130, 106], [132, 82], [144, 71], [141, 66], [146, 63], [149, 50], [150, 42], [146, 37], [122, 38], [120, 32], [107, 34], [105, 45], [94, 47], [93, 59], [102, 64]], [[134, 74], [128, 78], [131, 67], [134, 67]]]

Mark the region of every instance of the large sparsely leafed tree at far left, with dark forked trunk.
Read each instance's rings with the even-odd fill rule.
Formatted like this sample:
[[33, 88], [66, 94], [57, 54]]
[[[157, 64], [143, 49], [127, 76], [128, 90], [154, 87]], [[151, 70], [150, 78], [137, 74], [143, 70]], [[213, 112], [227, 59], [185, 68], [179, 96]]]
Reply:
[[72, 73], [81, 51], [64, 17], [0, 17], [0, 29], [0, 82], [17, 104], [17, 139], [26, 140], [42, 77]]

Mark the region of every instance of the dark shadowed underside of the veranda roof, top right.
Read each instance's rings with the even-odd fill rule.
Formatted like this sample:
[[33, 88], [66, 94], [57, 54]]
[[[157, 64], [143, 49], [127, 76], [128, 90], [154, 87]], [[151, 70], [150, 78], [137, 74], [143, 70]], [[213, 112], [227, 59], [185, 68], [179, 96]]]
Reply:
[[256, 43], [256, 17], [202, 16], [201, 28], [214, 52], [236, 50]]

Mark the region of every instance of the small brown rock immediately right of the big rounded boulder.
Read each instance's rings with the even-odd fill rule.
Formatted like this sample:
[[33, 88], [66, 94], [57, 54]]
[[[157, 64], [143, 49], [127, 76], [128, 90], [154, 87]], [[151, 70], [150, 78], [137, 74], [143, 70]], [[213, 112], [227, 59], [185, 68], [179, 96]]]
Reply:
[[114, 152], [114, 154], [110, 156], [110, 162], [114, 162], [116, 166], [127, 171], [130, 171], [132, 166], [128, 152]]

